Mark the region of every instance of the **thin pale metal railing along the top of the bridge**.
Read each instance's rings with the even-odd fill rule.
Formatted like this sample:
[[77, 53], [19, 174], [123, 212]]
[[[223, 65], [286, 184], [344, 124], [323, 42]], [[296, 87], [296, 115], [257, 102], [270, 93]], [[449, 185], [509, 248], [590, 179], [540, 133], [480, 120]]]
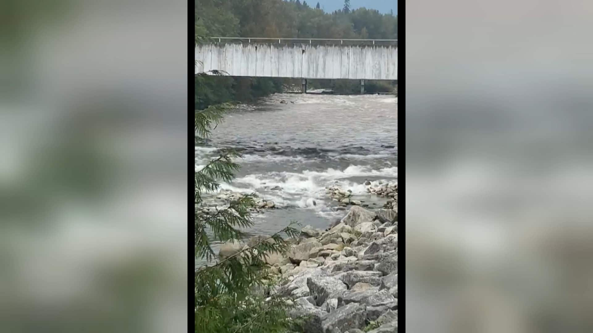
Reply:
[[395, 45], [397, 39], [323, 39], [323, 38], [269, 38], [269, 37], [210, 37], [218, 43], [276, 43], [276, 44], [339, 44], [339, 45]]

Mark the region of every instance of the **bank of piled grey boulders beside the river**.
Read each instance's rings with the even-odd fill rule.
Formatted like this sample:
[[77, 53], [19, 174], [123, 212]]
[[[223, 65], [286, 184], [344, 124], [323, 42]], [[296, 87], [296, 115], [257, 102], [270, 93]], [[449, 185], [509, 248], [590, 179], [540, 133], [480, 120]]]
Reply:
[[[396, 201], [391, 205], [352, 206], [327, 230], [302, 228], [286, 257], [269, 256], [272, 273], [283, 281], [270, 293], [291, 299], [290, 314], [305, 318], [304, 333], [397, 332]], [[248, 244], [225, 244], [220, 255]]]

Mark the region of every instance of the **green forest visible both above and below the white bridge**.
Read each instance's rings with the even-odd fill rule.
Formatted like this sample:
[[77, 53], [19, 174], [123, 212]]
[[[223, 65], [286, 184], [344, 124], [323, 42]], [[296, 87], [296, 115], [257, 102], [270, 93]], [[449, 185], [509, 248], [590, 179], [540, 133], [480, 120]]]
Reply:
[[[344, 8], [324, 12], [306, 0], [195, 0], [196, 36], [203, 37], [280, 37], [327, 39], [397, 39], [397, 16], [375, 9]], [[250, 101], [282, 91], [288, 79], [205, 78], [212, 94], [206, 104], [226, 101]], [[297, 82], [300, 84], [300, 82]], [[313, 81], [310, 88], [334, 88], [350, 94], [359, 91], [355, 81]], [[393, 84], [367, 82], [366, 91], [393, 91]], [[203, 106], [203, 105], [202, 105]]]

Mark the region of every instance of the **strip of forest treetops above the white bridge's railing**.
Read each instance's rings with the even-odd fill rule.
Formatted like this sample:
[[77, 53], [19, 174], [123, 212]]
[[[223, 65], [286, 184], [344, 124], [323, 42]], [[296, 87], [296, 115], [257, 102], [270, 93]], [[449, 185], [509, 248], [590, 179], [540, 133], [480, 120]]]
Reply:
[[195, 0], [196, 33], [209, 37], [397, 39], [397, 17], [375, 9], [326, 13], [307, 1]]

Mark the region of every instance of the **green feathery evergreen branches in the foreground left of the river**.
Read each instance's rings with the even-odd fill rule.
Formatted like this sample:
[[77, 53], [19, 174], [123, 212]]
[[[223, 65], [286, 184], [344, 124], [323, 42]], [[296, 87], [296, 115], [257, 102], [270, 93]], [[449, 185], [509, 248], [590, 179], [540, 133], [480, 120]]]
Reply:
[[[196, 37], [196, 42], [203, 40]], [[222, 121], [231, 107], [212, 104], [212, 92], [196, 75], [195, 136], [203, 142]], [[266, 259], [289, 249], [285, 238], [298, 235], [293, 225], [267, 239], [246, 247], [231, 257], [218, 260], [213, 242], [239, 241], [244, 229], [253, 225], [252, 196], [232, 201], [215, 212], [203, 212], [203, 195], [218, 190], [219, 182], [234, 178], [239, 165], [234, 151], [224, 150], [217, 158], [195, 172], [195, 257], [205, 260], [195, 273], [195, 332], [200, 333], [275, 333], [288, 332], [294, 320], [286, 315], [285, 299], [266, 292], [276, 281], [268, 273]]]

